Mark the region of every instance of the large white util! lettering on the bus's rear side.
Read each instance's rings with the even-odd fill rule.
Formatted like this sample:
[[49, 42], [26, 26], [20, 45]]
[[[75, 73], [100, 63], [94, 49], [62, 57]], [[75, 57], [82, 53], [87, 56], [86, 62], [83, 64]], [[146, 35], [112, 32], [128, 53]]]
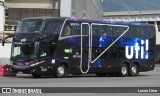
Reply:
[[149, 45], [149, 40], [146, 39], [145, 41], [141, 40], [141, 46], [139, 45], [139, 43], [136, 43], [135, 46], [126, 46], [125, 48], [126, 58], [132, 59], [135, 54], [135, 59], [138, 59], [139, 56], [141, 59], [148, 59], [148, 48], [149, 48], [148, 45]]

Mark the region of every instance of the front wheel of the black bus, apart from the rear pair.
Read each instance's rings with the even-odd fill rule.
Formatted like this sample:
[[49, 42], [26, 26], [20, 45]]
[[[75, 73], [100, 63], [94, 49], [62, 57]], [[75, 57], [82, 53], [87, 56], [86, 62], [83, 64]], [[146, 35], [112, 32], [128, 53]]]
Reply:
[[60, 64], [56, 70], [56, 77], [62, 78], [67, 76], [67, 68], [63, 64]]

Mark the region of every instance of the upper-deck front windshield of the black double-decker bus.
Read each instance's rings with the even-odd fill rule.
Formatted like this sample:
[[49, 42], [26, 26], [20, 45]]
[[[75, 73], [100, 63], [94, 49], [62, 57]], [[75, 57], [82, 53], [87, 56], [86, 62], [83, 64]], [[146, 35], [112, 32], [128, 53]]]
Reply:
[[16, 33], [39, 33], [42, 22], [41, 19], [22, 20], [16, 29]]

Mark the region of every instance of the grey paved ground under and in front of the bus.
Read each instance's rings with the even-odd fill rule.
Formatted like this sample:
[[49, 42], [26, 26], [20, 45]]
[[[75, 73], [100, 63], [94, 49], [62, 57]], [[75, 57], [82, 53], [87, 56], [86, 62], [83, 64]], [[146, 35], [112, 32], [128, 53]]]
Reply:
[[[149, 72], [141, 72], [136, 77], [96, 77], [70, 76], [68, 78], [43, 77], [33, 78], [31, 75], [18, 75], [17, 77], [0, 77], [0, 87], [160, 87], [160, 67]], [[4, 95], [4, 94], [0, 94]], [[24, 96], [28, 96], [24, 94]], [[50, 96], [51, 94], [45, 94]], [[68, 94], [67, 96], [124, 96], [125, 94]], [[129, 94], [128, 94], [129, 95]], [[134, 96], [130, 94], [129, 96]], [[160, 94], [136, 94], [137, 96], [159, 96]], [[6, 96], [6, 95], [5, 95]], [[12, 96], [12, 95], [10, 95]], [[17, 96], [15, 94], [15, 96]], [[39, 96], [34, 94], [34, 96]], [[66, 96], [66, 94], [56, 94]]]

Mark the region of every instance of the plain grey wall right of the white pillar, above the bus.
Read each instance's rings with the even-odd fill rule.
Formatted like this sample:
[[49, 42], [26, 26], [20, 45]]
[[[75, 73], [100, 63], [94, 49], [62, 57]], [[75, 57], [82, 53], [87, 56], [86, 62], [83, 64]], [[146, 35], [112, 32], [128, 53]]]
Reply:
[[101, 0], [72, 0], [71, 16], [84, 19], [102, 19]]

